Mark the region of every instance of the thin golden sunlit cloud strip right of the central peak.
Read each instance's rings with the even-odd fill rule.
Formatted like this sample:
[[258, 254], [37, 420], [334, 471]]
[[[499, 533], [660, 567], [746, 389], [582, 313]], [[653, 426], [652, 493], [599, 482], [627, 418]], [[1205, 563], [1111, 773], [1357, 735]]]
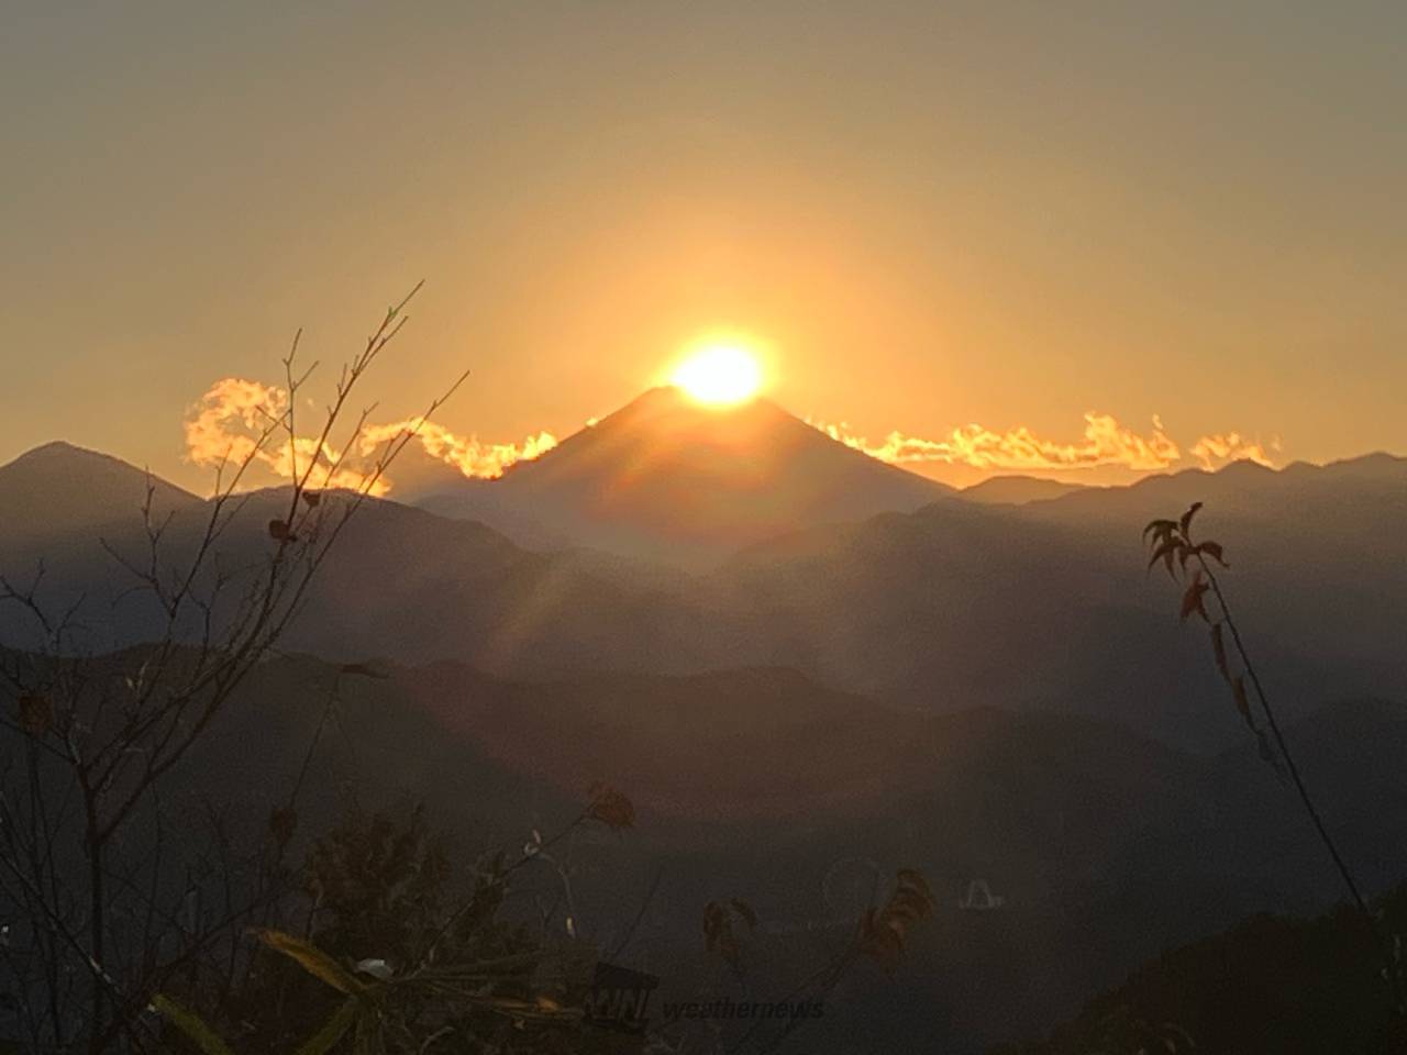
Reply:
[[[1006, 432], [993, 432], [978, 423], [960, 425], [940, 439], [908, 436], [891, 432], [884, 440], [871, 443], [853, 432], [846, 422], [827, 423], [808, 418], [808, 422], [834, 440], [871, 457], [895, 464], [937, 463], [967, 466], [992, 471], [1057, 471], [1114, 466], [1155, 473], [1183, 460], [1182, 449], [1155, 416], [1152, 428], [1140, 433], [1109, 414], [1085, 414], [1081, 440], [1062, 443], [1036, 435], [1021, 425]], [[1278, 443], [1271, 445], [1278, 449]], [[1190, 453], [1206, 467], [1240, 459], [1271, 464], [1265, 447], [1240, 433], [1217, 433], [1200, 437]]]

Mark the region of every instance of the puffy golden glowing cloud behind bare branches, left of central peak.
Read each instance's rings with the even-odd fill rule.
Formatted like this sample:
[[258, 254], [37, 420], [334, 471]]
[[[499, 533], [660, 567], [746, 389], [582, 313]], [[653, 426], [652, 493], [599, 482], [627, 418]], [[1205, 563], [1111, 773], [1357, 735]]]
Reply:
[[[515, 461], [535, 459], [557, 446], [549, 432], [528, 436], [522, 443], [483, 443], [436, 422], [408, 418], [387, 425], [364, 423], [339, 449], [331, 442], [319, 445], [315, 436], [300, 435], [290, 442], [281, 426], [270, 433], [270, 426], [287, 411], [288, 392], [277, 385], [241, 377], [215, 381], [186, 415], [186, 457], [203, 468], [252, 460], [281, 480], [291, 480], [294, 470], [301, 475], [312, 466], [311, 487], [366, 488], [380, 497], [394, 488], [394, 477], [374, 478], [377, 457], [407, 433], [415, 433], [411, 443], [429, 457], [480, 478], [498, 477]], [[318, 421], [315, 415], [310, 416], [312, 421]]]

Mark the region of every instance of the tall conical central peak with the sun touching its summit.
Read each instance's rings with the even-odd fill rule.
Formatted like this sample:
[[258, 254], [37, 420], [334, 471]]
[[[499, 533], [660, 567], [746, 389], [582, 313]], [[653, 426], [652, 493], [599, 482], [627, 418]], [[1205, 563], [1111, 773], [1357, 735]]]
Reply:
[[654, 388], [498, 480], [464, 480], [418, 505], [483, 520], [529, 549], [584, 546], [704, 568], [799, 528], [954, 494], [767, 399], [708, 408]]

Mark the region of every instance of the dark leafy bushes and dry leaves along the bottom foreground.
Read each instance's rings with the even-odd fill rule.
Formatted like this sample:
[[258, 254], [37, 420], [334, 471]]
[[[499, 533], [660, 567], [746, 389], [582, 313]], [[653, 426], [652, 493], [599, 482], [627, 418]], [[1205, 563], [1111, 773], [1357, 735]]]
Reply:
[[[622, 1032], [597, 1020], [591, 982], [601, 954], [578, 937], [571, 869], [553, 852], [584, 827], [619, 833], [633, 824], [630, 800], [594, 785], [585, 809], [559, 834], [533, 831], [515, 858], [480, 858], [466, 892], [419, 809], [408, 823], [353, 813], [312, 847], [304, 868], [311, 907], [284, 906], [280, 927], [250, 933], [256, 950], [238, 986], [191, 975], [152, 997], [160, 1044], [200, 1055], [716, 1051], [718, 1038], [664, 1038], [646, 1021]], [[560, 876], [568, 914], [532, 926], [507, 909], [511, 879], [539, 862]], [[868, 909], [850, 944], [787, 1000], [825, 999], [862, 958], [892, 975], [909, 931], [933, 907], [924, 878], [900, 869], [888, 900]], [[301, 935], [291, 933], [300, 921]], [[708, 951], [739, 979], [757, 923], [737, 897], [704, 909]], [[753, 1023], [730, 1051], [775, 1051], [802, 1021]]]

